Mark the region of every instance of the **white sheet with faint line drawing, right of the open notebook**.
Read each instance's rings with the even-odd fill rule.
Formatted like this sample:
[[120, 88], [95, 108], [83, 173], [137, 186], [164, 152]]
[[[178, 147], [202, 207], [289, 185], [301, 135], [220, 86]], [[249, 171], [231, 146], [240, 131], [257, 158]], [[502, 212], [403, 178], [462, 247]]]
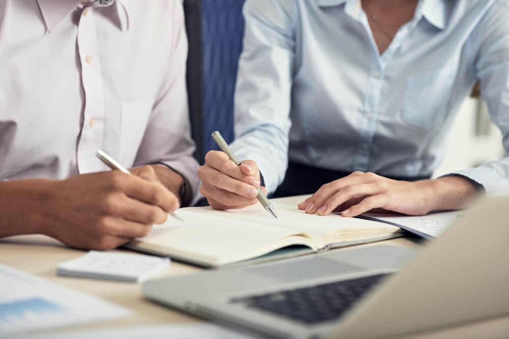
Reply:
[[397, 224], [409, 232], [431, 239], [439, 237], [450, 225], [458, 220], [462, 215], [462, 211], [434, 212], [418, 217], [388, 213], [364, 213], [363, 215]]

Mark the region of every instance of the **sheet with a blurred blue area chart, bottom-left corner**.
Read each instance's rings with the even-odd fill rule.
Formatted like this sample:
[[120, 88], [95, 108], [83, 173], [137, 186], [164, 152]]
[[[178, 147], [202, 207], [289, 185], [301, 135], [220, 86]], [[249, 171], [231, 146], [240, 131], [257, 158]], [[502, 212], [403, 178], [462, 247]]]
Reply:
[[117, 319], [128, 309], [0, 264], [0, 337]]

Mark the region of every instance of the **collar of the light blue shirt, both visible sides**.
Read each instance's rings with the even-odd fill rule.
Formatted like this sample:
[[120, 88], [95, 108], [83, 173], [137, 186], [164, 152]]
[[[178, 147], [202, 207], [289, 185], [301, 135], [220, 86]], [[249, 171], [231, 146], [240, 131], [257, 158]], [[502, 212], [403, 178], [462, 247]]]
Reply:
[[[448, 0], [419, 0], [416, 9], [416, 17], [425, 17], [428, 22], [439, 29], [444, 29], [447, 21]], [[347, 3], [347, 7], [354, 7], [354, 3], [360, 4], [360, 0], [317, 0], [320, 7], [340, 6]], [[351, 6], [350, 6], [351, 5]], [[346, 9], [348, 10], [348, 8]]]

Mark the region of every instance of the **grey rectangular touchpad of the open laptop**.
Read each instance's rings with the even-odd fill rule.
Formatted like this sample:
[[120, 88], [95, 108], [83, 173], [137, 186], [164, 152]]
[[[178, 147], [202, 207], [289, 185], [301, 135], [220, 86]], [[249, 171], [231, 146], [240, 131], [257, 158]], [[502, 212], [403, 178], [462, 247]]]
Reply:
[[255, 266], [248, 269], [251, 273], [284, 282], [323, 278], [329, 275], [352, 273], [362, 270], [365, 270], [365, 268], [321, 258], [281, 262], [275, 265]]

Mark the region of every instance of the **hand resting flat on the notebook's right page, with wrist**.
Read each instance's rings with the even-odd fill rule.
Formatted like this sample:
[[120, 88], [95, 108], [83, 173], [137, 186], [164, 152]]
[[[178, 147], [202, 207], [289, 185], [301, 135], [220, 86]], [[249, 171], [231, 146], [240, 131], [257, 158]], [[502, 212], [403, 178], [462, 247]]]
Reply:
[[432, 210], [464, 207], [476, 192], [475, 184], [461, 176], [410, 182], [357, 171], [324, 184], [298, 207], [319, 215], [341, 211], [344, 217], [374, 209], [424, 215]]

